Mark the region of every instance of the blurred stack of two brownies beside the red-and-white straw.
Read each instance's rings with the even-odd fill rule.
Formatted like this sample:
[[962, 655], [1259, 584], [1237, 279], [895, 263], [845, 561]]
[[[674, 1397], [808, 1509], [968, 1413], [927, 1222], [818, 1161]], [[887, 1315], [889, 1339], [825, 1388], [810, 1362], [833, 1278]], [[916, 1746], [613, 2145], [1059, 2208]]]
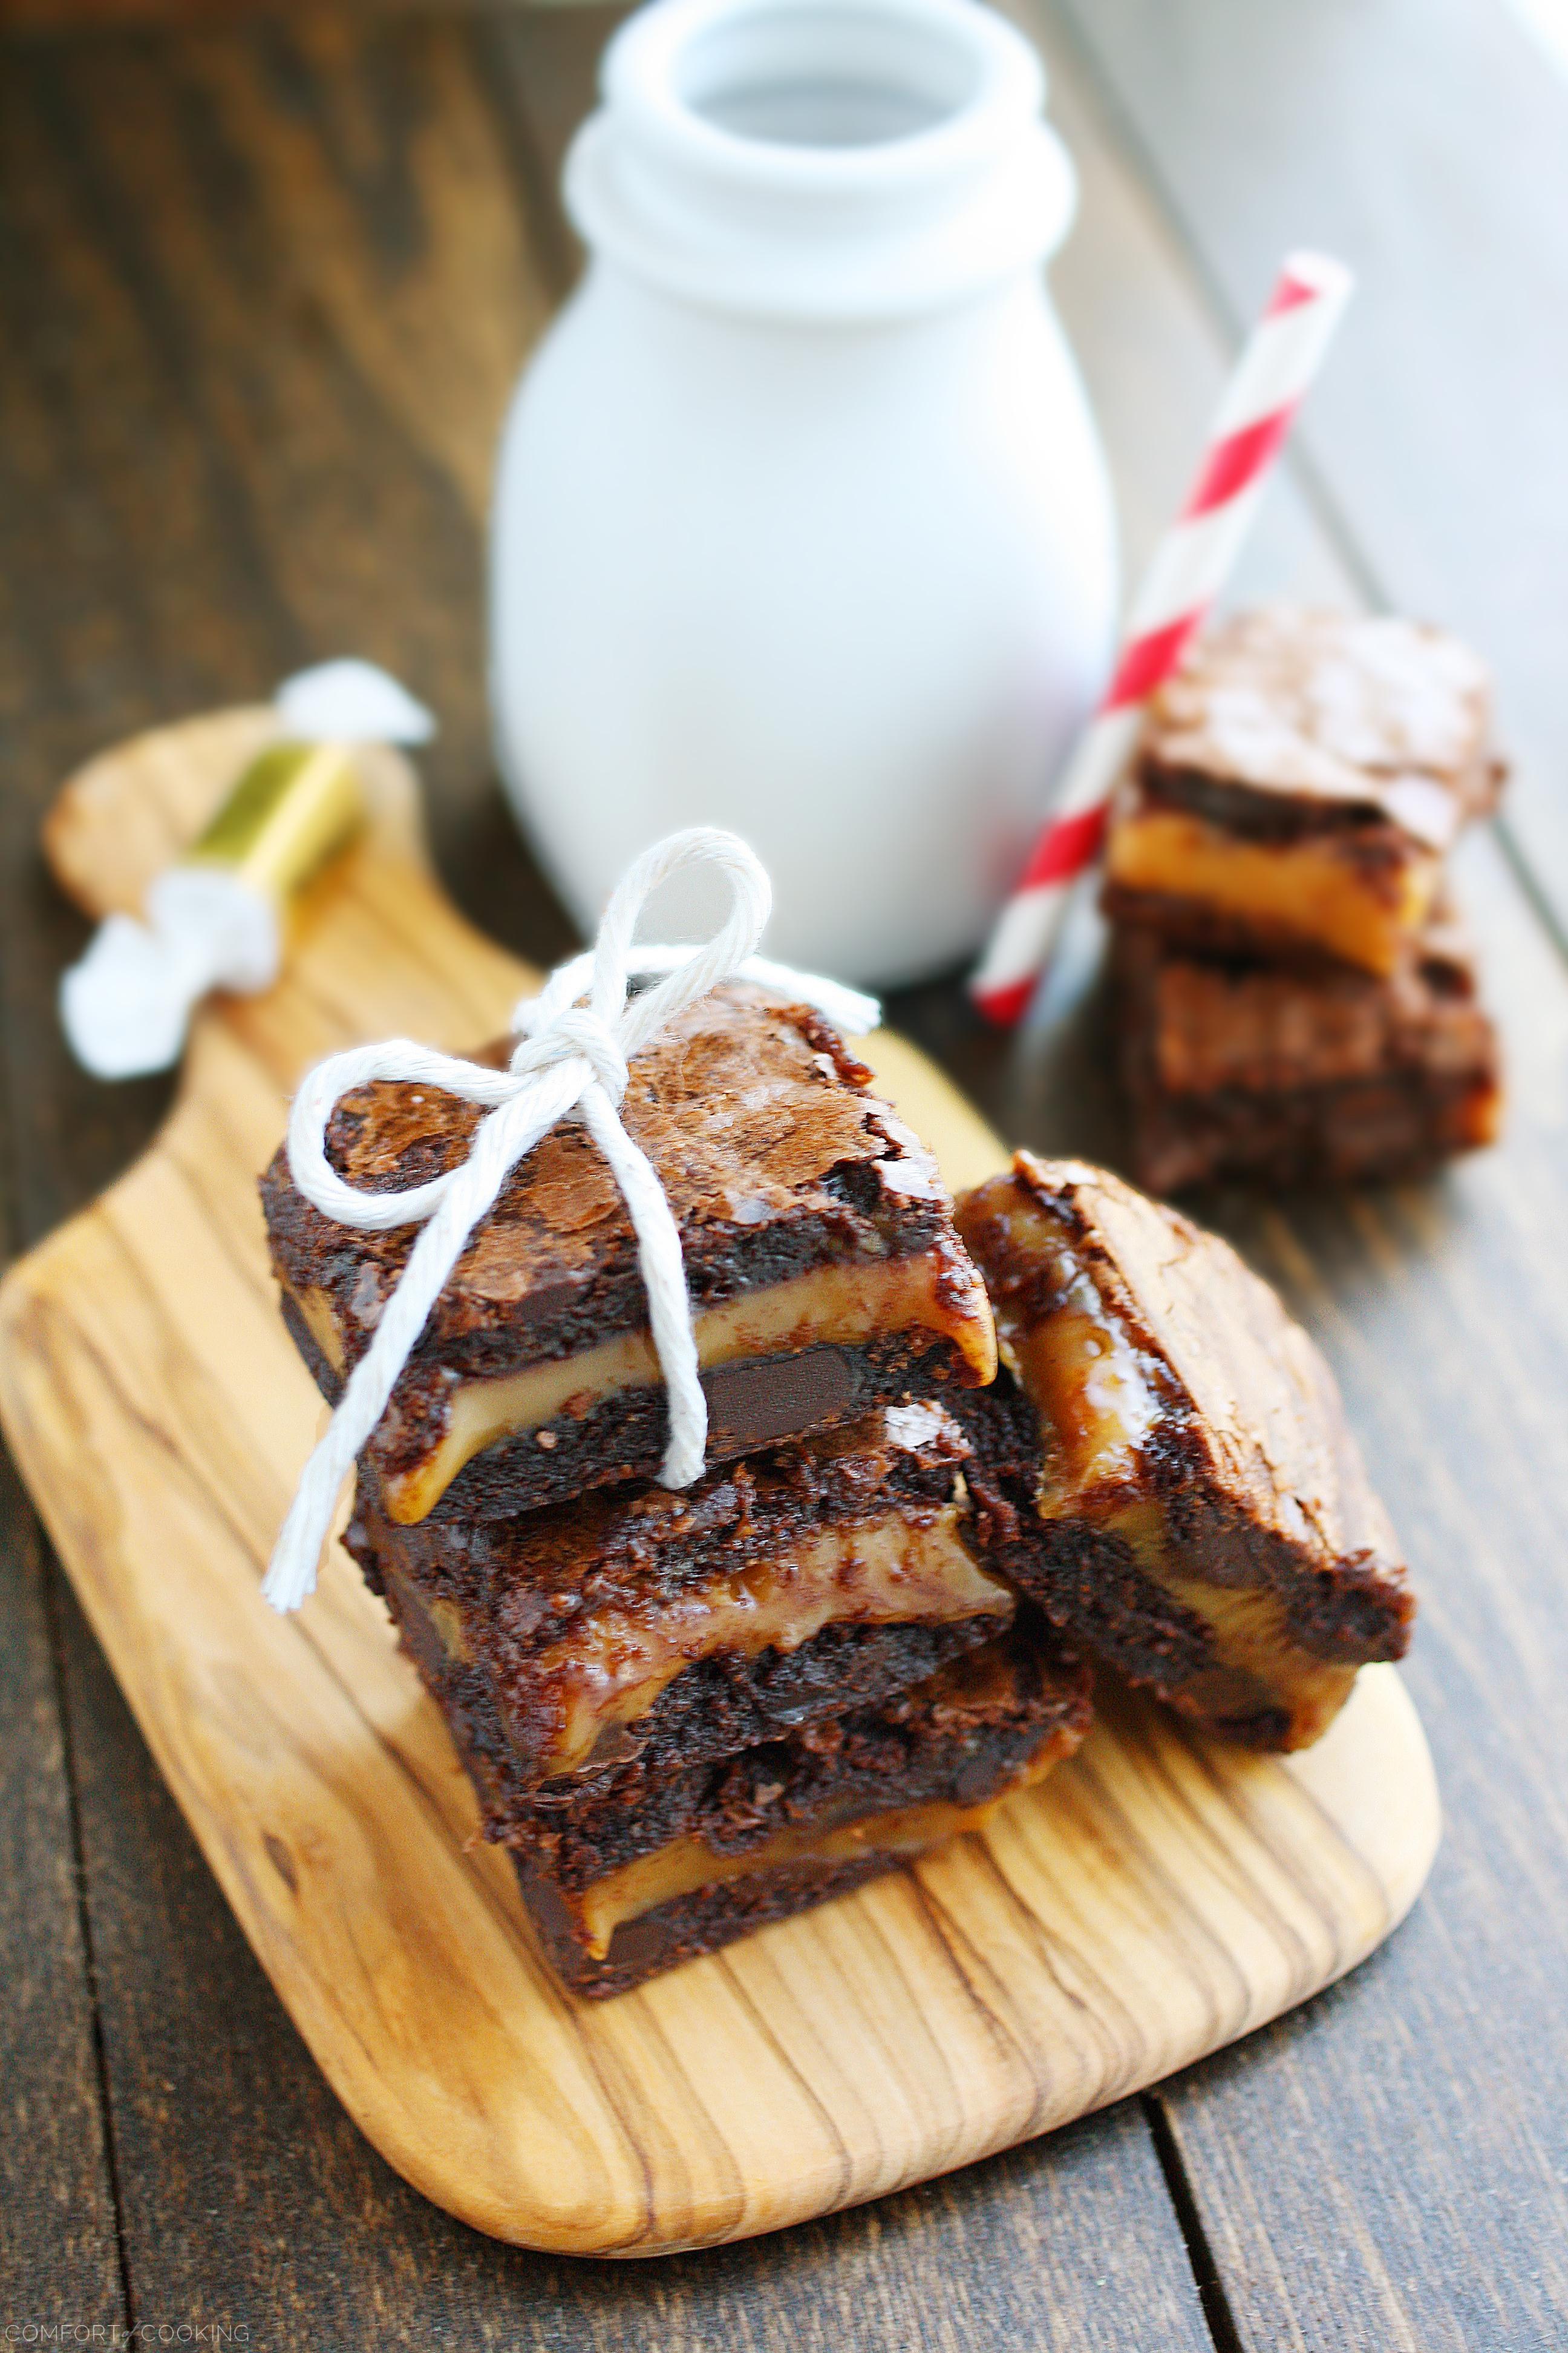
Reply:
[[1392, 1176], [1495, 1136], [1446, 859], [1500, 788], [1488, 675], [1441, 631], [1276, 607], [1199, 640], [1107, 840], [1143, 1184]]

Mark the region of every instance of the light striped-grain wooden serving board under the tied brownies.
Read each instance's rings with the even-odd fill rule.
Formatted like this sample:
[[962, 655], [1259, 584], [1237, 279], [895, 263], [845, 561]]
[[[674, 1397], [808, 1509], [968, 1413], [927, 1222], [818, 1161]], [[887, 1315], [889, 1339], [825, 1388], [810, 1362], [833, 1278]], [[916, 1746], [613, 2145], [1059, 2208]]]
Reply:
[[[136, 906], [270, 725], [190, 720], [75, 776], [47, 831], [66, 889]], [[1371, 1953], [1439, 1835], [1382, 1666], [1288, 1762], [1114, 1704], [983, 1838], [621, 2000], [559, 1991], [348, 1558], [296, 1619], [256, 1591], [322, 1412], [256, 1200], [287, 1089], [350, 1040], [473, 1045], [529, 984], [442, 899], [407, 765], [371, 776], [376, 821], [313, 889], [282, 984], [200, 1016], [155, 1146], [5, 1280], [0, 1414], [160, 1769], [376, 2148], [534, 2247], [745, 2238], [1046, 2132]], [[867, 1059], [950, 1184], [1001, 1162], [910, 1045]]]

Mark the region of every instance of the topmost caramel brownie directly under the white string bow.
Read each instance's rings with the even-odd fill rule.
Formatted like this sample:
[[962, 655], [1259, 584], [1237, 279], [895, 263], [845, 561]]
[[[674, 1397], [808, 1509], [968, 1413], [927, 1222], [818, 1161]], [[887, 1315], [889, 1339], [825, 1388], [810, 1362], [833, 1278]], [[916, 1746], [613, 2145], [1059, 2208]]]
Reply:
[[[992, 1377], [985, 1289], [936, 1162], [867, 1080], [809, 1007], [741, 986], [632, 1064], [621, 1115], [682, 1233], [710, 1461]], [[329, 1160], [397, 1191], [454, 1167], [477, 1118], [435, 1087], [371, 1085], [339, 1104]], [[289, 1329], [336, 1398], [416, 1228], [334, 1224], [282, 1151], [261, 1195]], [[362, 1461], [388, 1518], [468, 1520], [651, 1478], [665, 1435], [637, 1238], [564, 1120], [475, 1228]]]

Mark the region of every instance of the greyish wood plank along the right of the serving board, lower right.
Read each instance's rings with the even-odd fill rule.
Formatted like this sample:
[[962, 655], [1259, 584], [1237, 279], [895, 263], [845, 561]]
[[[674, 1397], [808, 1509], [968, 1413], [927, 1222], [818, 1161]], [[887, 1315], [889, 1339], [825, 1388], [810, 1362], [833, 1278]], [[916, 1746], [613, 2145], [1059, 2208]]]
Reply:
[[1465, 868], [1512, 1059], [1505, 1151], [1429, 1188], [1227, 1217], [1326, 1341], [1410, 1546], [1408, 1680], [1446, 1812], [1432, 1894], [1380, 1967], [1312, 2033], [1265, 2038], [1258, 2075], [1166, 2092], [1258, 2348], [1547, 2353], [1568, 2329], [1568, 1005], [1495, 849]]

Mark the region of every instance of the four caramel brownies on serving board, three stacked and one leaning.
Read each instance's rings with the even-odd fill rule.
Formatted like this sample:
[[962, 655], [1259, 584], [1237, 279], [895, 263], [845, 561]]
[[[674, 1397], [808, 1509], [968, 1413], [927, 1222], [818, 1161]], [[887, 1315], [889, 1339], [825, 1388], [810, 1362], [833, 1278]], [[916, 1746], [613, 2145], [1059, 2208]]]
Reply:
[[[576, 1122], [512, 1169], [360, 1457], [348, 1546], [583, 1993], [978, 1826], [1081, 1741], [1084, 1659], [1298, 1748], [1408, 1640], [1333, 1379], [1229, 1245], [1030, 1153], [954, 1209], [867, 1078], [752, 988], [632, 1064], [708, 1393], [693, 1487], [656, 1485], [635, 1235]], [[477, 1118], [371, 1085], [327, 1148], [404, 1188]], [[411, 1231], [331, 1224], [284, 1153], [263, 1200], [336, 1400]]]

